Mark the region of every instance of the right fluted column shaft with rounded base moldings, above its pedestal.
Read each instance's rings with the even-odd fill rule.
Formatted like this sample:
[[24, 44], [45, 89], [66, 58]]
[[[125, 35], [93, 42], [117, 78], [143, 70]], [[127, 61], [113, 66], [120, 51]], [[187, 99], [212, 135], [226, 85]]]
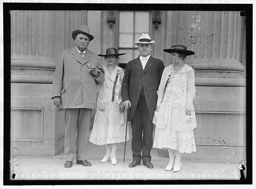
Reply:
[[197, 71], [197, 86], [245, 86], [244, 66], [239, 62], [239, 14], [239, 11], [167, 13], [167, 19], [172, 20], [167, 26], [166, 48], [183, 44], [195, 52], [186, 61]]

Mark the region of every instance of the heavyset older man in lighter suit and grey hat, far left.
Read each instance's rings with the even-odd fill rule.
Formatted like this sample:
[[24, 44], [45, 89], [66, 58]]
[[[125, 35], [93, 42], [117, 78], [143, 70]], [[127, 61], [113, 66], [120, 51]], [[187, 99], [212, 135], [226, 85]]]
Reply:
[[55, 106], [64, 109], [65, 168], [76, 164], [91, 166], [86, 160], [90, 116], [96, 107], [97, 84], [105, 80], [99, 56], [87, 49], [93, 35], [89, 27], [81, 25], [73, 30], [76, 46], [61, 52], [52, 83]]

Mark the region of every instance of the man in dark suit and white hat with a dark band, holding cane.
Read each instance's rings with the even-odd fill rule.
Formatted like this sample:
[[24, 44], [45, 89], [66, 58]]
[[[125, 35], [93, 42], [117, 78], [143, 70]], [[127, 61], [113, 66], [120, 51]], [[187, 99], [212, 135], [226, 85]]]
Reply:
[[135, 42], [140, 56], [128, 62], [122, 81], [122, 100], [127, 109], [130, 107], [127, 119], [131, 121], [132, 129], [133, 161], [129, 167], [140, 165], [142, 159], [143, 165], [154, 168], [150, 155], [154, 129], [152, 120], [164, 69], [162, 60], [150, 56], [154, 43], [148, 34], [142, 34]]

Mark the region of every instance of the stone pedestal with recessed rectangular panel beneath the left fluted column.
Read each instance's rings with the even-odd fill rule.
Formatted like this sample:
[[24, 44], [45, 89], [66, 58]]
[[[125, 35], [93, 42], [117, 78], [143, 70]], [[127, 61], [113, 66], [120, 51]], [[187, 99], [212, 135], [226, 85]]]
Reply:
[[11, 83], [11, 142], [18, 154], [54, 156], [64, 148], [63, 112], [51, 91], [52, 84]]

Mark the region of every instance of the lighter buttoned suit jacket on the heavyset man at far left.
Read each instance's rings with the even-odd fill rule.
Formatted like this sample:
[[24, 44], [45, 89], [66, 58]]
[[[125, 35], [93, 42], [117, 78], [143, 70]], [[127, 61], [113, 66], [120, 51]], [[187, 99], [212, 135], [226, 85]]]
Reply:
[[102, 68], [99, 56], [88, 49], [83, 60], [76, 47], [61, 52], [53, 76], [52, 98], [61, 97], [62, 108], [95, 109], [96, 87], [105, 80], [104, 71], [96, 80], [87, 64]]

